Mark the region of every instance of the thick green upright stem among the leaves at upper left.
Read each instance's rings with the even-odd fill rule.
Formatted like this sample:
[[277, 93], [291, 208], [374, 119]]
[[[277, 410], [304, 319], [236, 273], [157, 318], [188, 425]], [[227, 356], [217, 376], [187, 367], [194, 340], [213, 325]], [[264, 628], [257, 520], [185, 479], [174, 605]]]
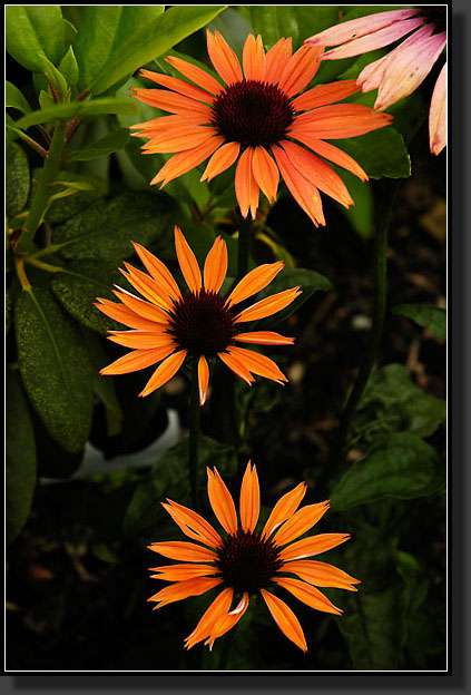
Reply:
[[65, 134], [66, 124], [58, 120], [56, 123], [49, 154], [39, 177], [38, 189], [32, 198], [31, 208], [24, 223], [20, 239], [17, 244], [16, 253], [28, 253], [35, 238], [36, 231], [42, 222], [50, 193], [49, 186], [51, 182], [57, 178], [59, 170], [59, 160], [66, 144]]

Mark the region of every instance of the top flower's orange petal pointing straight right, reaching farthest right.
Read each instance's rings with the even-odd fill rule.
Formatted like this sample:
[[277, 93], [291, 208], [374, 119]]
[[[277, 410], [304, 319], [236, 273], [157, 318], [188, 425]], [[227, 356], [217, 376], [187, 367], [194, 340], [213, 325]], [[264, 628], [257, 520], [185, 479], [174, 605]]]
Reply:
[[311, 134], [327, 140], [356, 137], [391, 125], [392, 116], [363, 104], [333, 104], [297, 116], [288, 135]]

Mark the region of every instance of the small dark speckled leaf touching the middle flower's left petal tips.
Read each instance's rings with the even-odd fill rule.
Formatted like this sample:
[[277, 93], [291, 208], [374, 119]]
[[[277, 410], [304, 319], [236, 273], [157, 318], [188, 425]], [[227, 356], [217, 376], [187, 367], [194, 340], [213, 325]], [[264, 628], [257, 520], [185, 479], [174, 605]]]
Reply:
[[97, 296], [116, 300], [114, 284], [124, 284], [124, 277], [114, 263], [76, 261], [63, 271], [53, 276], [51, 290], [76, 321], [104, 335], [107, 331], [124, 329], [95, 306]]

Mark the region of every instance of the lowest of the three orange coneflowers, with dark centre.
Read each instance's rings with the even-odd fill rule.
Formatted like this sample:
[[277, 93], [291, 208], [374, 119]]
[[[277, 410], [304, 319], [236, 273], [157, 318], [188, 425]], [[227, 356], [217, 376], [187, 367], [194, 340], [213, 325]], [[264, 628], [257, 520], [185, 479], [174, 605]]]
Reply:
[[160, 589], [148, 600], [157, 601], [155, 608], [161, 608], [189, 596], [205, 594], [214, 587], [222, 588], [196, 628], [185, 639], [187, 649], [203, 640], [212, 648], [215, 639], [242, 618], [251, 595], [259, 593], [282, 633], [306, 652], [300, 621], [292, 609], [272, 593], [272, 588], [282, 587], [316, 610], [341, 615], [342, 610], [316, 587], [356, 591], [352, 585], [360, 581], [332, 565], [305, 558], [335, 548], [347, 540], [350, 535], [320, 534], [296, 540], [328, 509], [328, 500], [297, 509], [306, 492], [304, 482], [277, 501], [262, 531], [257, 531], [259, 488], [256, 468], [252, 468], [251, 462], [241, 487], [238, 525], [233, 498], [219, 473], [216, 469], [214, 472], [207, 469], [207, 474], [209, 502], [226, 535], [223, 538], [192, 509], [169, 499], [167, 503], [163, 502], [184, 534], [203, 545], [168, 541], [149, 546], [150, 550], [183, 564], [150, 568], [158, 572], [151, 575], [153, 578], [174, 584]]

